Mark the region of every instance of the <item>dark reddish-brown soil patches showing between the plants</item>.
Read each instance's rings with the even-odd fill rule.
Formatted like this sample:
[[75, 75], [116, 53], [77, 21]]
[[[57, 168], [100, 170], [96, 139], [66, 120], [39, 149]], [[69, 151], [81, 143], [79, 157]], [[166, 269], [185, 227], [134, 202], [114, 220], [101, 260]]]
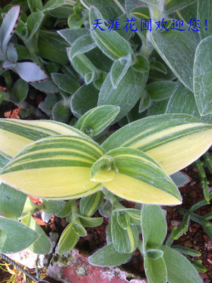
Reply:
[[[1, 89], [4, 90], [3, 87], [1, 87]], [[42, 93], [41, 94], [35, 93], [35, 95], [31, 94], [30, 96], [28, 96], [27, 101], [31, 105], [37, 106], [40, 103], [40, 101], [44, 100], [44, 98], [45, 96]], [[20, 119], [21, 118], [20, 108], [17, 108], [17, 106], [14, 105], [13, 103], [6, 103], [5, 105], [1, 105], [0, 117]], [[38, 119], [38, 117], [35, 117], [35, 115], [30, 115], [27, 119], [35, 120]], [[47, 119], [47, 117], [45, 117], [45, 119]], [[189, 175], [191, 181], [185, 187], [179, 188], [183, 199], [182, 205], [177, 207], [163, 207], [164, 209], [167, 210], [167, 226], [168, 226], [167, 236], [170, 236], [170, 232], [173, 226], [180, 226], [181, 224], [182, 215], [179, 214], [177, 209], [179, 207], [183, 207], [184, 209], [189, 209], [189, 207], [191, 207], [192, 204], [204, 198], [204, 195], [201, 190], [201, 184], [199, 183], [199, 175], [196, 171], [196, 168], [189, 166], [188, 168], [184, 169], [184, 173]], [[212, 174], [209, 173], [209, 171], [207, 171], [206, 173], [208, 180], [210, 182], [209, 187], [212, 187]], [[40, 204], [39, 199], [33, 197], [32, 200], [36, 204]], [[132, 202], [124, 201], [123, 204], [126, 207], [134, 207], [134, 203]], [[199, 215], [204, 215], [207, 214], [208, 212], [212, 212], [211, 205], [205, 205], [204, 207], [201, 207], [201, 209], [196, 210], [195, 213]], [[101, 215], [98, 212], [96, 212], [94, 216], [101, 216]], [[47, 234], [50, 231], [54, 231], [61, 234], [64, 228], [68, 225], [68, 222], [66, 222], [65, 219], [59, 219], [57, 216], [54, 215], [47, 224], [44, 221], [42, 221], [40, 214], [35, 215], [35, 220], [37, 221], [38, 224], [40, 224], [40, 226], [42, 226], [42, 228], [45, 230]], [[107, 230], [107, 224], [108, 224], [108, 219], [104, 217], [104, 221], [101, 226], [95, 228], [87, 228], [86, 230], [88, 235], [86, 237], [80, 238], [77, 244], [77, 248], [79, 250], [86, 250], [89, 253], [93, 253], [95, 252], [95, 250], [98, 250], [99, 248], [105, 246], [106, 244], [105, 231]], [[203, 227], [194, 221], [190, 221], [189, 231], [187, 232], [187, 234], [180, 237], [178, 241], [174, 242], [174, 244], [199, 250], [199, 252], [201, 253], [201, 257], [198, 259], [202, 260], [202, 264], [207, 269], [207, 272], [204, 274], [200, 274], [200, 276], [202, 279], [204, 279], [205, 283], [210, 283], [212, 280], [212, 257], [211, 257], [212, 241], [210, 240], [210, 238], [208, 238]], [[193, 258], [193, 259], [197, 260], [197, 258]], [[145, 273], [143, 270], [143, 258], [141, 257], [141, 253], [139, 253], [139, 250], [136, 250], [132, 258], [129, 260], [129, 262], [122, 265], [122, 267], [124, 267], [125, 270], [140, 275], [141, 277], [145, 277]], [[33, 275], [35, 275], [35, 270], [30, 270], [30, 272]], [[45, 273], [45, 270], [40, 270], [40, 273]], [[45, 279], [47, 279], [51, 283], [57, 282], [54, 279], [50, 279], [49, 277], [46, 276], [47, 275], [42, 275], [42, 277], [45, 277]], [[25, 281], [23, 277], [20, 277], [20, 275], [18, 275], [16, 282], [23, 283]]]

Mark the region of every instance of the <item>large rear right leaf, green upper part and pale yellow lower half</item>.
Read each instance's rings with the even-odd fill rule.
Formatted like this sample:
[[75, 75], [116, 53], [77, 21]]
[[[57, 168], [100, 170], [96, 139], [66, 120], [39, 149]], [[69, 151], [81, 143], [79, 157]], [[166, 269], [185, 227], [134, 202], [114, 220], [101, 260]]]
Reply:
[[173, 174], [199, 158], [212, 144], [212, 125], [185, 114], [146, 117], [114, 132], [102, 147], [131, 147], [146, 152]]

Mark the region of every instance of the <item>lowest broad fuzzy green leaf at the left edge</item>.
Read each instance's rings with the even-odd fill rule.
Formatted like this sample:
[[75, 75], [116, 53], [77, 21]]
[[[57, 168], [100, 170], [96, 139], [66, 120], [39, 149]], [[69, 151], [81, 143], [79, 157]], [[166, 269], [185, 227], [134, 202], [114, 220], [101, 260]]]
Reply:
[[37, 238], [39, 238], [39, 233], [24, 224], [16, 220], [0, 217], [1, 253], [18, 253], [37, 241]]

